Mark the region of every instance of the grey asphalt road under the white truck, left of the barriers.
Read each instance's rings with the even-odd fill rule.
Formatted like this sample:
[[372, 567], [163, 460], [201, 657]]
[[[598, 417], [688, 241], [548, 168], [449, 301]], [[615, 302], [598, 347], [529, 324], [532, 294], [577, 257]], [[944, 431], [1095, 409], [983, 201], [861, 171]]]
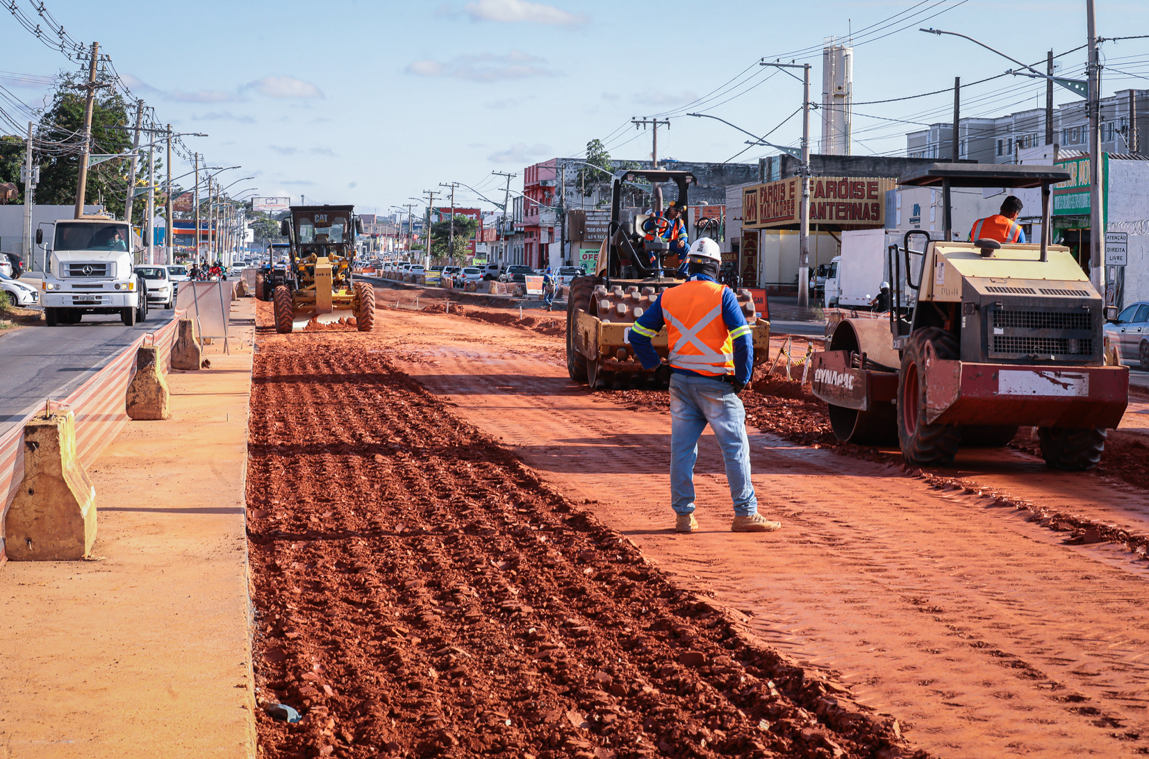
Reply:
[[170, 322], [172, 313], [152, 309], [147, 322], [134, 327], [125, 327], [118, 316], [86, 313], [79, 324], [0, 335], [0, 432], [46, 398], [65, 397], [141, 334]]

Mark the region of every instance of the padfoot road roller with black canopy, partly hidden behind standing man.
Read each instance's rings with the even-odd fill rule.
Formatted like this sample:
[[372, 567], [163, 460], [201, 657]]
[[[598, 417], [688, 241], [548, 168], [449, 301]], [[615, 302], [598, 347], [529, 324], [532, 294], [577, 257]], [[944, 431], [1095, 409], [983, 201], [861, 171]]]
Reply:
[[[631, 347], [630, 330], [634, 320], [649, 309], [658, 295], [681, 284], [673, 276], [678, 256], [662, 240], [665, 222], [657, 216], [639, 214], [632, 222], [622, 220], [623, 184], [646, 180], [661, 199], [660, 183], [674, 183], [677, 204], [687, 210], [687, 191], [695, 183], [688, 171], [633, 170], [614, 178], [610, 226], [599, 247], [594, 273], [571, 281], [566, 299], [566, 371], [576, 382], [591, 389], [649, 388], [665, 389], [669, 370], [645, 370]], [[661, 204], [661, 201], [655, 203]], [[669, 272], [669, 273], [668, 273]], [[637, 276], [635, 276], [637, 274]], [[740, 289], [739, 305], [753, 327], [754, 363], [766, 361], [770, 348], [770, 322], [755, 313], [749, 291]], [[666, 328], [651, 340], [654, 349], [665, 359], [669, 348]], [[665, 364], [663, 364], [665, 366]]]

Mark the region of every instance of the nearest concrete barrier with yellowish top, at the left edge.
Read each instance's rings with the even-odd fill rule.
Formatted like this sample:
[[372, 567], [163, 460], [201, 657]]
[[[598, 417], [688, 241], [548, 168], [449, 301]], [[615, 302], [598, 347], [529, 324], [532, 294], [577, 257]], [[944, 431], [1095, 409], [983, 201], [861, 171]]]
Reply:
[[75, 561], [92, 550], [95, 487], [76, 455], [71, 411], [24, 425], [24, 478], [8, 510], [5, 542], [16, 561]]

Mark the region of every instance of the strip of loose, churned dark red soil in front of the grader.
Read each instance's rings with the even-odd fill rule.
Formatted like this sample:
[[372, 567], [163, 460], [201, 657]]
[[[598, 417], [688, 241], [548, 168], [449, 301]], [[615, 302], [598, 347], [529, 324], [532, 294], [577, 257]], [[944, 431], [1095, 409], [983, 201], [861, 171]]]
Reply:
[[364, 347], [256, 354], [256, 680], [303, 713], [257, 713], [262, 756], [895, 756], [892, 718], [670, 584]]

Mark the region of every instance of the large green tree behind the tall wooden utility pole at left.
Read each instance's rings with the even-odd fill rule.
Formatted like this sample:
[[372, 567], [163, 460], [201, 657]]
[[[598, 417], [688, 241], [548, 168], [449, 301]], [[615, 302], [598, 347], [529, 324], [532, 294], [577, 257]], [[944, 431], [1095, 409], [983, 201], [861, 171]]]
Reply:
[[[37, 131], [39, 141], [52, 146], [52, 152], [40, 164], [40, 184], [36, 188], [36, 202], [44, 204], [71, 206], [76, 202], [76, 184], [79, 179], [79, 156], [84, 134], [84, 107], [87, 95], [76, 85], [85, 82], [82, 75], [64, 72], [52, 99], [44, 111]], [[97, 90], [92, 108], [92, 153], [123, 153], [132, 145], [131, 132], [109, 126], [128, 126], [128, 107], [124, 99], [113, 87]], [[138, 162], [147, 170], [147, 157]], [[129, 157], [105, 161], [87, 171], [85, 204], [102, 201], [107, 210], [116, 216], [124, 212], [124, 195], [128, 192]], [[145, 175], [146, 176], [146, 175]], [[133, 183], [134, 184], [134, 178]], [[134, 212], [139, 210], [139, 216]], [[142, 218], [144, 203], [133, 203], [133, 219]]]

